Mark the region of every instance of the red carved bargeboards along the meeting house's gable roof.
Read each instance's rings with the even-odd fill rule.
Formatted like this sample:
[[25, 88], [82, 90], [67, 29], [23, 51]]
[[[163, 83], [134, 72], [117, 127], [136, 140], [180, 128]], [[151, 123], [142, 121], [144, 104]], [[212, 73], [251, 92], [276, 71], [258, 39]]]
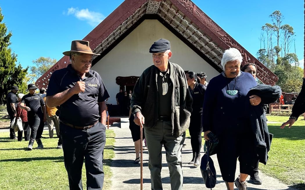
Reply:
[[[175, 6], [179, 12], [182, 12], [185, 17], [192, 21], [196, 27], [198, 26], [206, 36], [208, 36], [214, 44], [222, 49], [226, 50], [230, 47], [237, 48], [243, 57], [242, 64], [254, 63], [257, 65], [257, 78], [268, 85], [274, 85], [278, 81], [278, 77], [272, 73], [267, 67], [265, 67], [260, 61], [258, 61], [253, 55], [251, 55], [245, 48], [237, 43], [228, 33], [226, 33], [220, 26], [218, 26], [209, 16], [207, 16], [201, 9], [199, 9], [192, 1], [189, 0], [125, 0], [117, 9], [115, 9], [106, 19], [104, 19], [95, 29], [93, 29], [83, 40], [90, 42], [90, 47], [95, 53], [102, 53], [104, 50], [95, 50], [101, 46], [103, 40], [113, 33], [118, 27], [122, 26], [128, 19], [134, 19], [132, 16], [143, 5], [148, 6], [149, 2], [166, 3], [168, 6]], [[160, 19], [158, 13], [150, 14], [151, 18], [155, 17]], [[178, 17], [177, 17], [178, 18]], [[304, 17], [305, 19], [305, 17]], [[132, 22], [135, 24], [135, 22]], [[172, 27], [172, 26], [170, 26]], [[305, 43], [305, 39], [304, 39]], [[98, 48], [97, 48], [98, 49]], [[304, 54], [305, 57], [305, 54]], [[96, 58], [96, 57], [95, 57]], [[57, 69], [61, 69], [69, 64], [69, 57], [64, 56], [61, 58], [50, 70], [42, 75], [37, 81], [36, 85], [41, 88], [48, 86], [48, 79], [52, 72]], [[214, 63], [217, 65], [216, 63]], [[219, 66], [219, 63], [218, 63]], [[217, 66], [217, 67], [218, 67]], [[304, 73], [305, 74], [305, 73]]]

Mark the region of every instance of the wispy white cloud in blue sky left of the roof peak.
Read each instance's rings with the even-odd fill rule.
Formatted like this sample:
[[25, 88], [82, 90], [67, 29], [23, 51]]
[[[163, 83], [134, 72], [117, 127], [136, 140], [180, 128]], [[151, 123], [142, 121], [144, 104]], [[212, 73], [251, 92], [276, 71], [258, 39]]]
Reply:
[[87, 21], [91, 26], [97, 26], [105, 16], [99, 12], [89, 11], [88, 9], [68, 8], [67, 15], [74, 15], [77, 19]]

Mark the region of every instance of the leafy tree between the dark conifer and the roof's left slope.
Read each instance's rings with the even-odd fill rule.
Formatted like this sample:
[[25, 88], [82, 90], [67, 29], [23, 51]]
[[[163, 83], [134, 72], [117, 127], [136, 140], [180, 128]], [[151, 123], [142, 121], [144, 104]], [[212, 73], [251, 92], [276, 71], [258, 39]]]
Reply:
[[39, 57], [32, 61], [35, 66], [30, 67], [31, 79], [37, 81], [45, 72], [47, 72], [54, 64], [56, 64], [56, 59], [51, 59], [50, 57]]

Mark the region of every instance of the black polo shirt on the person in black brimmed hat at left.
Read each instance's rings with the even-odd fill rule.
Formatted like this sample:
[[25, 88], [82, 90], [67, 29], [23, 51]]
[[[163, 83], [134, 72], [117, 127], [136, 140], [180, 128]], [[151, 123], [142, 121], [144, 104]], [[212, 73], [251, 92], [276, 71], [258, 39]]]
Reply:
[[21, 99], [21, 103], [24, 103], [27, 107], [30, 107], [31, 111], [27, 112], [27, 117], [39, 116], [43, 117], [41, 109], [42, 105], [45, 105], [45, 101], [39, 94], [31, 95], [30, 93], [24, 95]]

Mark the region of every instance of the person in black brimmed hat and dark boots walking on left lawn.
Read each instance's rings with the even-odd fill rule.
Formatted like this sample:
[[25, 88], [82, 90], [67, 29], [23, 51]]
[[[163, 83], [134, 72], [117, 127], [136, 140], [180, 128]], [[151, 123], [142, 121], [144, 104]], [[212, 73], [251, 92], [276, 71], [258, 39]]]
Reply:
[[41, 135], [47, 117], [45, 101], [41, 95], [36, 94], [36, 89], [37, 87], [34, 84], [27, 85], [29, 93], [22, 97], [20, 103], [20, 108], [27, 111], [27, 121], [31, 128], [30, 141], [27, 150], [33, 149], [34, 140], [36, 140], [38, 144], [37, 149], [43, 149]]

